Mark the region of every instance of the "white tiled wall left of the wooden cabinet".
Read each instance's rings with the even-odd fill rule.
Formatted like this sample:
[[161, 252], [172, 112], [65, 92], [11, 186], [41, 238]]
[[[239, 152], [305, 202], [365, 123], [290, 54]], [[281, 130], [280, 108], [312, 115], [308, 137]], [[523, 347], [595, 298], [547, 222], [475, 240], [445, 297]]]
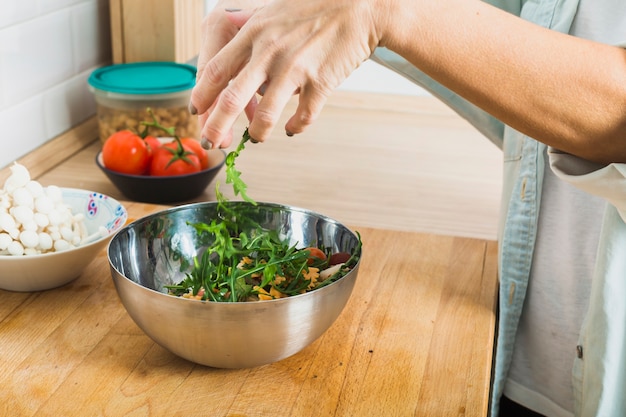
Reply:
[[93, 115], [87, 77], [110, 61], [108, 0], [3, 0], [0, 167]]

